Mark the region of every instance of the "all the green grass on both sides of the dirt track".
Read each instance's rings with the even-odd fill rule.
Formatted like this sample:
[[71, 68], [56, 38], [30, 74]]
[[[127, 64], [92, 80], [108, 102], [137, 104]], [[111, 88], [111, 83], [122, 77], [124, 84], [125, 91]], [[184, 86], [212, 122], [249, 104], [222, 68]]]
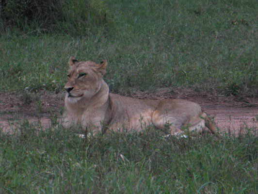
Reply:
[[[0, 29], [2, 93], [63, 91], [74, 56], [107, 59], [114, 93], [191, 87], [258, 97], [257, 0], [97, 0], [108, 22], [90, 27], [83, 0], [67, 2], [70, 20], [48, 32]], [[51, 120], [48, 129], [24, 121], [15, 134], [0, 132], [0, 194], [258, 193], [254, 129], [177, 139], [148, 128], [85, 141]]]

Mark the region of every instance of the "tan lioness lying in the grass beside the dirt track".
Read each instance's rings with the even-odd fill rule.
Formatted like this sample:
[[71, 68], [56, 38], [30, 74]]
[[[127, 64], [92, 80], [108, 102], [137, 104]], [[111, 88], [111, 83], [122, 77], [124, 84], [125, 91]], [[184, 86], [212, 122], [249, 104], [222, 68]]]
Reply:
[[96, 64], [69, 59], [63, 125], [79, 123], [91, 132], [106, 130], [141, 131], [153, 124], [158, 129], [168, 129], [169, 134], [182, 134], [183, 130], [201, 132], [205, 126], [212, 133], [216, 125], [201, 107], [183, 99], [149, 100], [122, 97], [109, 93], [102, 79], [107, 60]]

